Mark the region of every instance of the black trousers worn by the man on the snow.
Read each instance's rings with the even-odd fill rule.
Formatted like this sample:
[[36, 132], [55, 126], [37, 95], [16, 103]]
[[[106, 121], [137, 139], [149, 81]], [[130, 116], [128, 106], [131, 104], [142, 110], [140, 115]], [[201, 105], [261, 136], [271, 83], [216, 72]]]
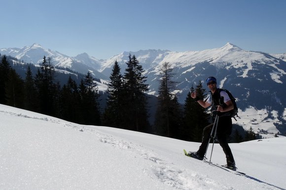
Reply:
[[[208, 142], [209, 142], [209, 138], [211, 136], [213, 125], [214, 125], [214, 123], [212, 123], [212, 124], [210, 124], [204, 128], [202, 144], [200, 145], [200, 148], [197, 151], [197, 154], [201, 157], [204, 157], [204, 155], [207, 151]], [[225, 154], [226, 163], [228, 165], [235, 163], [231, 149], [227, 143], [227, 138], [228, 138], [228, 136], [231, 135], [231, 131], [232, 131], [231, 117], [230, 116], [219, 117], [218, 118], [218, 124], [217, 124], [216, 139], [218, 140], [219, 145], [221, 146], [221, 148]]]

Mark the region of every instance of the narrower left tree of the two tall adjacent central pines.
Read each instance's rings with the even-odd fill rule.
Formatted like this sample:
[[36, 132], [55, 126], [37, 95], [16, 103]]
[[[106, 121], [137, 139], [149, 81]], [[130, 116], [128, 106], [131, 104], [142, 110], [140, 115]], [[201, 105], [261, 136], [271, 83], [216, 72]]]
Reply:
[[110, 127], [123, 127], [123, 77], [115, 60], [108, 83], [107, 108], [104, 113], [104, 124]]

